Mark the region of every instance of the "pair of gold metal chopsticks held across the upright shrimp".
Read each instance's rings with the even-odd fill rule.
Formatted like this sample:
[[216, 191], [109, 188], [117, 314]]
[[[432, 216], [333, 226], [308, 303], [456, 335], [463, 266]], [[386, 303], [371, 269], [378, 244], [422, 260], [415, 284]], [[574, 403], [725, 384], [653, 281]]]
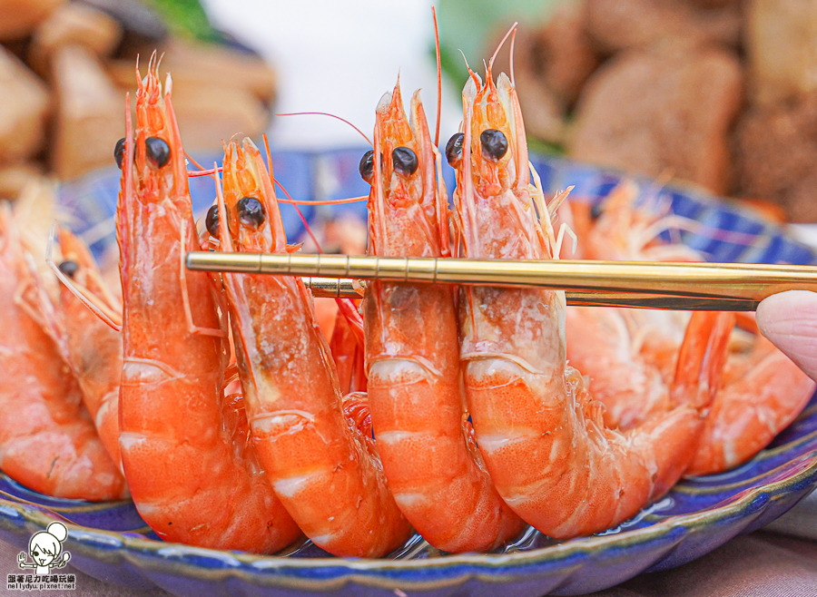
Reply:
[[[377, 258], [193, 251], [189, 269], [307, 276], [316, 296], [359, 296], [342, 279], [536, 286], [567, 290], [568, 304], [754, 310], [790, 289], [817, 291], [817, 268], [740, 263]], [[318, 278], [316, 278], [318, 277]]]

